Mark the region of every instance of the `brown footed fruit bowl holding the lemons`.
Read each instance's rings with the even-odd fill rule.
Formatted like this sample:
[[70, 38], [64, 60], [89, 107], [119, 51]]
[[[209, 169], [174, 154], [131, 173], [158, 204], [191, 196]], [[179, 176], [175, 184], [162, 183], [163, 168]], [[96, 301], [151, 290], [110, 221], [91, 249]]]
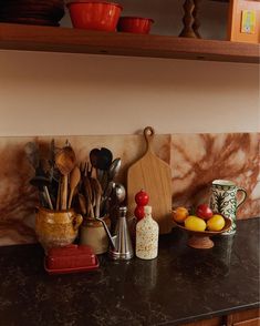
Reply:
[[221, 231], [190, 231], [186, 228], [183, 224], [176, 223], [176, 225], [186, 231], [190, 236], [188, 238], [188, 245], [197, 249], [208, 249], [214, 246], [214, 242], [210, 240], [211, 236], [221, 234], [228, 231], [231, 226], [231, 220], [225, 218], [225, 226]]

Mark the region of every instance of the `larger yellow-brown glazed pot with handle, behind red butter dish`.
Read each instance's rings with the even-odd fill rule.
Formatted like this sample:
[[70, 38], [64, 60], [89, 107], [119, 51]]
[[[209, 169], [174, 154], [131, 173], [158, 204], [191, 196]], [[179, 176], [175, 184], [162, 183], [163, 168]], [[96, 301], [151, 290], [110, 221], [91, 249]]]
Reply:
[[82, 221], [83, 217], [73, 210], [51, 211], [40, 207], [35, 218], [38, 240], [45, 252], [52, 247], [72, 244]]

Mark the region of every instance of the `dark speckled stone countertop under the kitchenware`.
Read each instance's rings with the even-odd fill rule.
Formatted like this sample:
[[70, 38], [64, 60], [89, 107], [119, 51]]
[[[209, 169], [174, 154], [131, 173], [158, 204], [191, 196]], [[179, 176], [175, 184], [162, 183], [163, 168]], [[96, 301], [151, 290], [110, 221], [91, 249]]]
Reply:
[[259, 306], [259, 218], [211, 249], [160, 238], [154, 261], [100, 257], [97, 271], [49, 276], [39, 245], [0, 248], [1, 326], [179, 325]]

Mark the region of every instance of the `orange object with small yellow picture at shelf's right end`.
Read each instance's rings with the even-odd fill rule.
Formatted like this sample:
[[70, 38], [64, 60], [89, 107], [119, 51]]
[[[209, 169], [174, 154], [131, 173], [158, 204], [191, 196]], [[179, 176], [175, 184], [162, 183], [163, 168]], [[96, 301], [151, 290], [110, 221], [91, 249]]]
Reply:
[[230, 0], [228, 40], [260, 43], [260, 0]]

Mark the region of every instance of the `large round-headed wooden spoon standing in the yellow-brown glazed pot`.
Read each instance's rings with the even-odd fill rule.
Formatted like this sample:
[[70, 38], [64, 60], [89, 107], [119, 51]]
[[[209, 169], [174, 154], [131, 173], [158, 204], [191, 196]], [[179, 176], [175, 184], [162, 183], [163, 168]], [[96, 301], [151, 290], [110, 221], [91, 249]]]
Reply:
[[74, 169], [76, 164], [76, 156], [71, 146], [64, 146], [55, 155], [55, 163], [63, 175], [62, 182], [60, 184], [61, 193], [61, 210], [66, 210], [66, 200], [67, 200], [67, 175]]

